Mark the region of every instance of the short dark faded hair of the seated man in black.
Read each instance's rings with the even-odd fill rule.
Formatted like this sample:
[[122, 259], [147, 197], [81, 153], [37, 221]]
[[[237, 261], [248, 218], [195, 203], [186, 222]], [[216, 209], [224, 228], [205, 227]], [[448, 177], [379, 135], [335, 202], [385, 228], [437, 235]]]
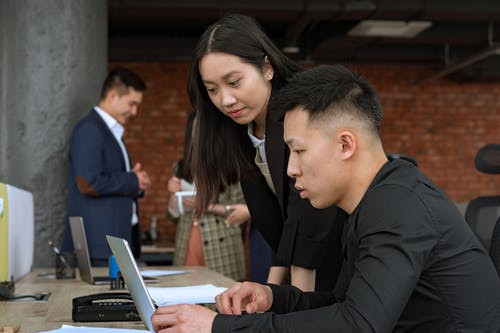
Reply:
[[380, 137], [382, 106], [368, 81], [341, 65], [322, 65], [297, 73], [272, 106], [281, 111], [304, 108], [310, 121], [349, 113], [370, 124]]

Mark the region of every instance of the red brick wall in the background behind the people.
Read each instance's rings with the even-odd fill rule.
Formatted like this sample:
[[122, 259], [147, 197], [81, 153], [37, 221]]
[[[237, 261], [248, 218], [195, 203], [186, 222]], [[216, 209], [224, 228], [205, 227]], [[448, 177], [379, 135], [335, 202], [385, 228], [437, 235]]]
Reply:
[[[127, 124], [125, 140], [133, 161], [141, 162], [153, 181], [140, 201], [143, 229], [153, 215], [160, 237], [173, 241], [167, 221], [167, 181], [182, 156], [184, 126], [191, 111], [186, 94], [187, 63], [121, 63], [136, 70], [149, 90], [139, 115]], [[500, 175], [475, 170], [474, 157], [487, 143], [500, 143], [500, 83], [458, 84], [446, 79], [414, 82], [433, 72], [414, 67], [350, 66], [377, 89], [385, 117], [386, 151], [415, 157], [420, 169], [452, 200], [469, 201], [500, 194]]]

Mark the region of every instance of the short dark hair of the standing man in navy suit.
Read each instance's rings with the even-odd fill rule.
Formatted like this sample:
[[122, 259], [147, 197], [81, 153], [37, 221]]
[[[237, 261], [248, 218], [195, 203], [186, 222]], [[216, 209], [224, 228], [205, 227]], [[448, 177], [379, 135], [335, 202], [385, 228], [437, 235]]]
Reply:
[[146, 84], [137, 73], [123, 66], [115, 67], [104, 79], [101, 99], [104, 99], [106, 94], [113, 89], [116, 89], [119, 95], [125, 95], [130, 87], [140, 92], [146, 90]]

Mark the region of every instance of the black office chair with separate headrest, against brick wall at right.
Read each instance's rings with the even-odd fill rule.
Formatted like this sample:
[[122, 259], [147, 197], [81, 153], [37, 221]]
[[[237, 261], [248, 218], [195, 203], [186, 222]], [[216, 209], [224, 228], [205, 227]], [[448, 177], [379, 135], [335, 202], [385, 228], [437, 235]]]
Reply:
[[[489, 144], [479, 149], [475, 163], [479, 171], [500, 174], [500, 145]], [[467, 205], [465, 220], [487, 251], [499, 217], [500, 195], [478, 197]]]

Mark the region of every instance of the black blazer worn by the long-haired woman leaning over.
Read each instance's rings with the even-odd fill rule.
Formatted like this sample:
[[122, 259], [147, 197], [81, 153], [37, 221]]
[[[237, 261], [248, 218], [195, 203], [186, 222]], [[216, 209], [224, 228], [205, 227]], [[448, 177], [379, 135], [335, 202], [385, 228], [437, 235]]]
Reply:
[[[286, 170], [290, 151], [283, 139], [283, 116], [268, 111], [265, 149], [276, 195], [255, 166], [255, 176], [243, 179], [252, 223], [274, 251], [274, 264], [317, 269], [316, 290], [332, 290], [342, 263], [341, 234], [346, 214], [337, 207], [316, 209], [301, 199]], [[249, 139], [250, 141], [250, 139]], [[255, 149], [249, 145], [253, 161]], [[327, 260], [325, 260], [327, 259]]]

